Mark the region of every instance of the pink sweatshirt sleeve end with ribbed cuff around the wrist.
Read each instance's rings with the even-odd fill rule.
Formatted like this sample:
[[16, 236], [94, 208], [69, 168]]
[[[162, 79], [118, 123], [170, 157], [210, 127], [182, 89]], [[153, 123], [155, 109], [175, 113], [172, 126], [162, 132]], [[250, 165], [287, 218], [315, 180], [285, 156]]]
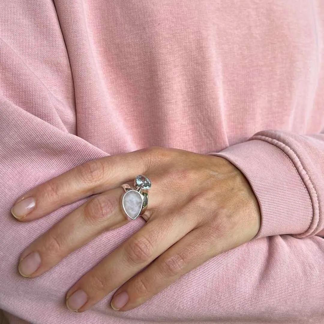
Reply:
[[219, 153], [239, 168], [259, 201], [256, 238], [320, 235], [324, 208], [324, 134], [268, 130]]

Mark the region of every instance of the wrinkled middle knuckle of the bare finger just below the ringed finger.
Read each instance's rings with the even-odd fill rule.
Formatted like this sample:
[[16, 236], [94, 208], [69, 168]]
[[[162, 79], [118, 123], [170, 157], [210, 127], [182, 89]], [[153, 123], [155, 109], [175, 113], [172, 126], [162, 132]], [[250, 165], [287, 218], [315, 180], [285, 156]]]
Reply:
[[153, 246], [151, 242], [145, 238], [133, 238], [125, 247], [126, 257], [133, 264], [143, 264], [151, 260], [153, 256]]

